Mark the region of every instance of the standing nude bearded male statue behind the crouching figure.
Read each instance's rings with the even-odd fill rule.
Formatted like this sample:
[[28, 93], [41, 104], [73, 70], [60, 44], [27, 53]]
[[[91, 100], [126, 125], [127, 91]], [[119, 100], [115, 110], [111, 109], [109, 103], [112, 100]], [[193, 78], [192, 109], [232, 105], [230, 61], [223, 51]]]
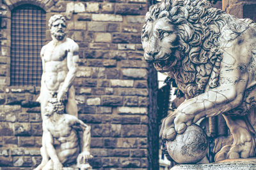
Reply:
[[[43, 74], [40, 96], [36, 100], [41, 104], [43, 122], [47, 118], [45, 116], [45, 106], [55, 94], [58, 102], [64, 104], [65, 113], [77, 117], [75, 89], [72, 82], [76, 78], [79, 46], [72, 39], [66, 38], [67, 24], [65, 17], [62, 15], [53, 15], [49, 19], [49, 28], [51, 29], [52, 41], [43, 46], [41, 50]], [[43, 132], [41, 153], [45, 153], [46, 150], [45, 141], [47, 140], [45, 135], [45, 132]], [[88, 152], [82, 150], [81, 155], [79, 161], [88, 157]], [[49, 157], [42, 154], [42, 163], [36, 167], [36, 170], [42, 169], [48, 160]]]

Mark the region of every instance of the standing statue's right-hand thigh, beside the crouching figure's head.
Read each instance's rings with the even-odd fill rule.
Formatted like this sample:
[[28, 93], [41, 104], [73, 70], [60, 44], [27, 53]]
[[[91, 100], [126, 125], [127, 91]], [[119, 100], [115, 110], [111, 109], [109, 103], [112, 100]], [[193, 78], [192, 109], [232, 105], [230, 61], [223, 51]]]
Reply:
[[68, 90], [68, 101], [65, 108], [68, 114], [77, 117], [78, 113], [77, 113], [77, 104], [76, 104], [75, 94], [76, 94], [76, 91], [74, 87], [71, 86], [70, 89]]

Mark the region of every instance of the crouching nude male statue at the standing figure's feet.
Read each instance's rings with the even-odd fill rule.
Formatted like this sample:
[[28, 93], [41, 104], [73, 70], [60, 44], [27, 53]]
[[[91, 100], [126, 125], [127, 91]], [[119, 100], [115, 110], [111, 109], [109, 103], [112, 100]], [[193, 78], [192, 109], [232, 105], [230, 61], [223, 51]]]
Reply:
[[[52, 97], [49, 99], [44, 111], [44, 148], [41, 149], [42, 155], [47, 157], [48, 161], [43, 170], [62, 170], [63, 165], [76, 164], [77, 157], [83, 157], [79, 155], [79, 136], [77, 131], [83, 131], [83, 150], [86, 152], [86, 157], [77, 162], [80, 169], [88, 169], [88, 159], [90, 155], [90, 126], [84, 124], [81, 120], [73, 115], [64, 114], [63, 103], [58, 102], [58, 99]], [[59, 145], [54, 146], [54, 141], [58, 141]], [[75, 166], [75, 165], [74, 165]]]

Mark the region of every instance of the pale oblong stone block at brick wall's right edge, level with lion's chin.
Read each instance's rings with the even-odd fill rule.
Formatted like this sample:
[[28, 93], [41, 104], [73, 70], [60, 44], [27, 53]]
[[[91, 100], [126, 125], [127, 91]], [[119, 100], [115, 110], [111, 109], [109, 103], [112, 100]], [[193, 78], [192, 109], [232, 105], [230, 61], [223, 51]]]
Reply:
[[147, 69], [122, 69], [122, 74], [126, 78], [147, 79]]

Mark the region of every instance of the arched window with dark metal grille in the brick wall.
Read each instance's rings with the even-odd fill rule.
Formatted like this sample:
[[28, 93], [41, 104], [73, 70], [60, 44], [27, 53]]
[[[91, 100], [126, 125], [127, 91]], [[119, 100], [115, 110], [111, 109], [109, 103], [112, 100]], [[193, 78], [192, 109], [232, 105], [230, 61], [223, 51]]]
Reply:
[[40, 86], [45, 43], [45, 11], [23, 4], [12, 10], [11, 78], [14, 86]]

